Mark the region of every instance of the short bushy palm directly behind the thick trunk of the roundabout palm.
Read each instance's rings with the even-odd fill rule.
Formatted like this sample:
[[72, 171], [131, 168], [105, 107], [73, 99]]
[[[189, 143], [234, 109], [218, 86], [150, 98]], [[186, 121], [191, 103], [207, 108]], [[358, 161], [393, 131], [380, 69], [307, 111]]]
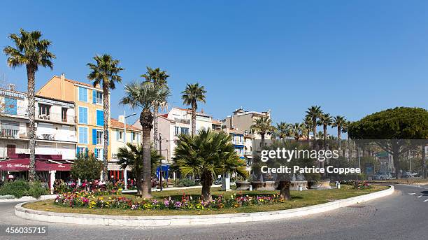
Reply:
[[[135, 145], [127, 143], [127, 147], [122, 147], [117, 150], [117, 164], [120, 165], [121, 169], [126, 169], [128, 166], [131, 167], [134, 176], [141, 176], [143, 172], [143, 145]], [[150, 151], [150, 162], [152, 165], [151, 175], [155, 175], [156, 168], [159, 166], [160, 160], [164, 159], [158, 154], [157, 150], [152, 149]], [[143, 194], [143, 188], [141, 185], [141, 178], [136, 178], [136, 185], [138, 188], [138, 195]]]

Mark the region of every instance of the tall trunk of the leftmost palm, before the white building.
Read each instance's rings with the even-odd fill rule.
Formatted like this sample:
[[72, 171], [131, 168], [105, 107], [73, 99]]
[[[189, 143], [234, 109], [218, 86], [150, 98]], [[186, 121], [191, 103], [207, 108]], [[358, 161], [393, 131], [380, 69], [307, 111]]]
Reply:
[[36, 118], [36, 102], [34, 100], [34, 84], [36, 81], [36, 72], [34, 67], [27, 65], [27, 98], [28, 98], [28, 118], [29, 118], [29, 150], [30, 150], [30, 166], [29, 166], [29, 181], [34, 181], [36, 178], [36, 129], [34, 127], [34, 119]]

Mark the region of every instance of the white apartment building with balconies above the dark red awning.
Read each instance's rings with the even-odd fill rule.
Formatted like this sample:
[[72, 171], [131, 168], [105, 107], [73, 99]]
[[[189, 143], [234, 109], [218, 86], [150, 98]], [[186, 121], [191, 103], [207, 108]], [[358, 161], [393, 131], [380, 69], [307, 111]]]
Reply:
[[[74, 103], [36, 95], [36, 155], [76, 156]], [[0, 89], [0, 157], [29, 154], [28, 100], [25, 92]], [[60, 156], [60, 157], [59, 157]]]

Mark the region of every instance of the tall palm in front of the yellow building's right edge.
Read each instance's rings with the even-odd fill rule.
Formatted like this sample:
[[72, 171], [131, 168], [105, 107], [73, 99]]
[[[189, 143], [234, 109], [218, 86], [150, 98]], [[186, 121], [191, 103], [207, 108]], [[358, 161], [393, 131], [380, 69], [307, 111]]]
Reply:
[[122, 77], [119, 76], [123, 69], [119, 65], [119, 60], [113, 59], [108, 54], [96, 55], [94, 58], [95, 64], [86, 64], [90, 68], [90, 73], [87, 79], [92, 80], [94, 87], [101, 85], [103, 89], [103, 111], [104, 111], [104, 150], [103, 150], [103, 178], [107, 180], [107, 158], [108, 158], [108, 120], [110, 119], [110, 90], [116, 88], [115, 83], [122, 82]]

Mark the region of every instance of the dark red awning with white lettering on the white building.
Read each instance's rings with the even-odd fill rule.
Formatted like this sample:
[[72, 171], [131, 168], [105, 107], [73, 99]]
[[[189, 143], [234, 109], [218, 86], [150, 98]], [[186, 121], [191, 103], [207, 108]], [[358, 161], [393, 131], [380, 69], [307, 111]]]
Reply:
[[[28, 171], [29, 159], [19, 159], [0, 162], [0, 171]], [[36, 171], [70, 171], [71, 164], [57, 164], [36, 160]]]

